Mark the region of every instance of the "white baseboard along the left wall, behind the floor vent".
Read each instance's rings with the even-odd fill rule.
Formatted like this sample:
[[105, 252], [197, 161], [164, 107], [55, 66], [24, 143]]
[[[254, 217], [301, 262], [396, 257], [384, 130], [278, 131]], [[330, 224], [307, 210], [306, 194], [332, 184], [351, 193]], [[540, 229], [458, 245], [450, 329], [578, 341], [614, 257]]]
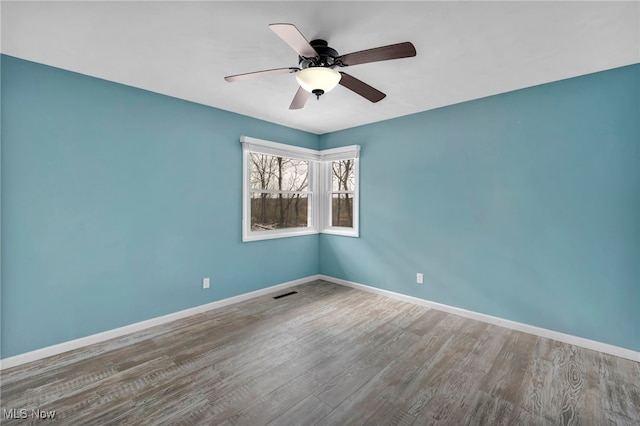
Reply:
[[215, 302], [207, 303], [205, 305], [196, 306], [193, 308], [185, 309], [182, 311], [174, 312], [172, 314], [163, 315], [156, 318], [151, 318], [145, 321], [137, 322], [124, 327], [114, 328], [112, 330], [104, 331], [102, 333], [92, 334], [90, 336], [81, 337], [79, 339], [70, 340], [68, 342], [59, 343], [57, 345], [47, 346], [46, 348], [36, 349], [31, 352], [26, 352], [20, 355], [4, 358], [0, 360], [0, 370], [16, 367], [21, 364], [25, 364], [31, 361], [37, 361], [39, 359], [47, 358], [53, 355], [58, 355], [64, 352], [68, 352], [74, 349], [79, 349], [84, 346], [93, 345], [95, 343], [104, 342], [105, 340], [113, 339], [115, 337], [121, 337], [126, 334], [141, 331], [156, 325], [165, 324], [178, 319], [186, 318], [191, 315], [196, 315], [202, 312], [209, 311], [211, 309], [221, 308], [223, 306], [231, 305], [234, 303], [242, 302], [254, 297], [263, 296], [265, 294], [273, 293], [284, 288], [293, 287], [299, 284], [304, 284], [309, 281], [319, 279], [319, 275], [312, 275], [305, 278], [289, 281], [282, 284], [276, 284], [271, 287], [263, 288], [260, 290], [252, 291], [249, 293], [240, 294], [238, 296], [229, 297], [227, 299], [216, 300]]

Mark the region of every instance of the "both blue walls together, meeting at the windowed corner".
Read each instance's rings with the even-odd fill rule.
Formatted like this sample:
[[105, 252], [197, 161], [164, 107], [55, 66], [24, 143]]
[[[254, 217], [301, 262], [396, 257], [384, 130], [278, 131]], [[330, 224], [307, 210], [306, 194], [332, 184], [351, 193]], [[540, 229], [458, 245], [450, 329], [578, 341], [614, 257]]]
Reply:
[[[319, 272], [640, 350], [640, 65], [317, 136], [1, 58], [2, 358]], [[361, 237], [243, 244], [242, 134], [360, 144]]]

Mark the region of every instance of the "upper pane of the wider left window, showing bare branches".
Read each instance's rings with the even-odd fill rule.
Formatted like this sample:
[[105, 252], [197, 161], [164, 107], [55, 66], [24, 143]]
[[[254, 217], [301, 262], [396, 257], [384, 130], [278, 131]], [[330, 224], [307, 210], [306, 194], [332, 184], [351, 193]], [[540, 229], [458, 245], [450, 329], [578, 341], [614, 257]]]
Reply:
[[306, 191], [309, 162], [266, 154], [250, 154], [251, 189]]

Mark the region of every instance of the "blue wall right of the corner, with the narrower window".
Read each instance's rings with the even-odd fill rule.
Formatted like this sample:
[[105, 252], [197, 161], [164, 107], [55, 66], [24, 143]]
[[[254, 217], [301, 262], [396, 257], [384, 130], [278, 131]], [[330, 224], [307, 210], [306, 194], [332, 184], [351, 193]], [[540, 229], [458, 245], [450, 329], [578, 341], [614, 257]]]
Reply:
[[321, 272], [640, 350], [639, 80], [634, 65], [323, 135], [362, 146], [361, 238], [321, 235]]

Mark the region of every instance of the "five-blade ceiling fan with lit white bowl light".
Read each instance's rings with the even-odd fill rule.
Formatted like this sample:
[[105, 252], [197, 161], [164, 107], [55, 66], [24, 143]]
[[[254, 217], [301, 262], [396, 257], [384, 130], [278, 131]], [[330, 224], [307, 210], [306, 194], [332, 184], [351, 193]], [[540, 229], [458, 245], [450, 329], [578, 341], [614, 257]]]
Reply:
[[408, 41], [340, 55], [325, 40], [308, 42], [293, 24], [271, 24], [269, 28], [296, 51], [299, 66], [230, 75], [224, 79], [234, 82], [263, 75], [296, 73], [300, 88], [289, 109], [304, 107], [311, 94], [320, 99], [321, 95], [338, 84], [371, 102], [381, 101], [387, 95], [346, 72], [336, 71], [335, 68], [416, 56], [415, 47]]

